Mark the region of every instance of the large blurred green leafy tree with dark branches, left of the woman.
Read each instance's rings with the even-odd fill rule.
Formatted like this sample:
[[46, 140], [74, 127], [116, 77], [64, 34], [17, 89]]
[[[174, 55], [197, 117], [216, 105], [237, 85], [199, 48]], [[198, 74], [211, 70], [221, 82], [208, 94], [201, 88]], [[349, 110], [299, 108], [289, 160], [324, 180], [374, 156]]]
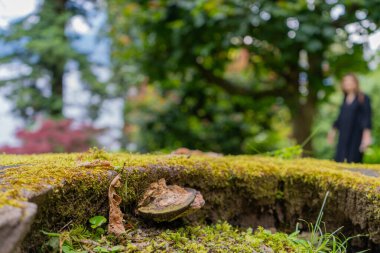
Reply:
[[[379, 9], [378, 1], [361, 0], [111, 0], [113, 57], [136, 64], [162, 96], [179, 91], [173, 110], [187, 119], [211, 118], [205, 99], [214, 107], [227, 99], [231, 111], [254, 110], [257, 116], [258, 108], [266, 115], [273, 113], [272, 105], [283, 104], [301, 144], [311, 135], [318, 104], [333, 91], [331, 77], [367, 70], [363, 47], [377, 29]], [[184, 107], [187, 111], [180, 110]], [[164, 124], [163, 129], [178, 122], [162, 119], [155, 125]], [[221, 139], [224, 130], [217, 130]], [[233, 132], [239, 135], [241, 129]], [[157, 138], [172, 134], [159, 132]], [[310, 142], [305, 148], [311, 150]]]

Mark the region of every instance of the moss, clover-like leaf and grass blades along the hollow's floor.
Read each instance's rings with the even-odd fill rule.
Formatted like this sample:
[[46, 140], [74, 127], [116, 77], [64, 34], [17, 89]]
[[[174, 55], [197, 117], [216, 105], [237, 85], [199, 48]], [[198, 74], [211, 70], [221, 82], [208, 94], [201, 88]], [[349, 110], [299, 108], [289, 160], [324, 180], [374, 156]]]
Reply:
[[[165, 231], [157, 229], [129, 230], [118, 239], [113, 236], [99, 237], [82, 226], [74, 227], [62, 233], [47, 233], [50, 239], [42, 247], [63, 253], [74, 252], [278, 252], [278, 253], [345, 253], [347, 244], [354, 237], [346, 238], [338, 228], [332, 233], [326, 232], [323, 225], [323, 209], [329, 192], [326, 193], [316, 222], [309, 223], [309, 234], [305, 238], [296, 231], [290, 235], [272, 233], [259, 227], [255, 232], [237, 229], [227, 222], [218, 222], [211, 226], [186, 226]], [[106, 222], [103, 216], [90, 220], [95, 228]], [[95, 225], [95, 227], [94, 227]], [[138, 241], [139, 243], [135, 243]], [[118, 244], [118, 245], [115, 245]], [[83, 250], [85, 249], [85, 250]], [[52, 252], [52, 251], [49, 251]], [[366, 251], [361, 251], [366, 252]]]

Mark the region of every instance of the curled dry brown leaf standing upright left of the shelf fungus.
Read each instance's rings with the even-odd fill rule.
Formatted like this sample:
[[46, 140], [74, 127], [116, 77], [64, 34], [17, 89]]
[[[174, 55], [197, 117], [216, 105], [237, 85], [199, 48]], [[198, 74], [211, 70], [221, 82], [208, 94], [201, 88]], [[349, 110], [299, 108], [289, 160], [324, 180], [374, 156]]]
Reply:
[[120, 210], [121, 197], [116, 193], [116, 188], [121, 186], [120, 175], [117, 175], [108, 188], [108, 200], [110, 206], [110, 215], [108, 223], [108, 233], [119, 236], [125, 233], [123, 224], [123, 213]]

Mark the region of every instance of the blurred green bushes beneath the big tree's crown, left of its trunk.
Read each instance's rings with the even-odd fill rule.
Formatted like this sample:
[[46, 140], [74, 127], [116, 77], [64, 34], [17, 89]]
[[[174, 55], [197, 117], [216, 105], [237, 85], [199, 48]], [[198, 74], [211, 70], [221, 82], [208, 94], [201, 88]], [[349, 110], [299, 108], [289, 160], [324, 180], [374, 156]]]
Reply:
[[[173, 150], [184, 146], [238, 154], [289, 146], [286, 136], [290, 128], [283, 126], [288, 117], [286, 110], [274, 107], [262, 112], [266, 110], [262, 105], [240, 101], [212, 87], [194, 85], [166, 96], [146, 87], [144, 93], [128, 100], [127, 134], [129, 141], [137, 144], [137, 150]], [[195, 93], [197, 99], [192, 97]], [[249, 103], [251, 109], [239, 111], [236, 103]]]

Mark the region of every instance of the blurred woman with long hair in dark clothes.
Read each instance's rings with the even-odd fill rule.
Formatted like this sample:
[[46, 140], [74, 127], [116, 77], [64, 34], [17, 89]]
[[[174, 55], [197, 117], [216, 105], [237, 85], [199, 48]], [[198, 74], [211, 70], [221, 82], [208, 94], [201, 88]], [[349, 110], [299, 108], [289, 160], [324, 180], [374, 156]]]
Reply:
[[344, 100], [339, 116], [328, 134], [328, 142], [332, 145], [336, 132], [339, 131], [335, 161], [361, 163], [364, 151], [372, 142], [370, 99], [360, 91], [355, 74], [345, 75], [341, 87]]

